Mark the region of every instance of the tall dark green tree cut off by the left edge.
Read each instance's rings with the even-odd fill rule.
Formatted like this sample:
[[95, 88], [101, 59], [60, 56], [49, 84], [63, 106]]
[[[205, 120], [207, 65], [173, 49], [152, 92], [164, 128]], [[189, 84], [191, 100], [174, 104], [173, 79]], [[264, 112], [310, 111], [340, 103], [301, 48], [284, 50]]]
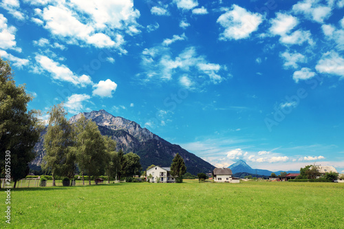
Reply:
[[17, 86], [7, 61], [0, 58], [0, 169], [5, 171], [6, 151], [10, 151], [11, 176], [14, 188], [17, 181], [29, 173], [28, 164], [34, 160], [34, 145], [43, 125], [39, 111], [28, 111], [33, 97], [25, 92], [25, 85]]

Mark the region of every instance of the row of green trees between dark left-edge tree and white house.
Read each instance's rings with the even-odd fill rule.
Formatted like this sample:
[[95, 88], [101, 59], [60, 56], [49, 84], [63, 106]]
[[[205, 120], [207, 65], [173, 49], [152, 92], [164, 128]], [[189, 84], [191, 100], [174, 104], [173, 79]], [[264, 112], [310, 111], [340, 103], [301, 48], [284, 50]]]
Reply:
[[55, 176], [72, 178], [76, 167], [83, 175], [107, 175], [120, 179], [122, 176], [140, 175], [140, 157], [135, 153], [116, 152], [116, 142], [109, 136], [103, 136], [92, 120], [86, 120], [81, 114], [76, 124], [70, 124], [63, 104], [54, 105], [48, 111], [49, 126], [44, 138], [46, 151], [43, 157], [43, 169], [52, 173], [52, 185]]

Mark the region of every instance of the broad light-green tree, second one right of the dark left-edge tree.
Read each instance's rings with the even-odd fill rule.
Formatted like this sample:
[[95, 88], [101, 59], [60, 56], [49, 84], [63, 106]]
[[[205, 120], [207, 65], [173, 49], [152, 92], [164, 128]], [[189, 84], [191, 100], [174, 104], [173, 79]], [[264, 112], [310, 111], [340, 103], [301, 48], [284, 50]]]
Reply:
[[[91, 184], [91, 176], [105, 173], [107, 160], [105, 141], [96, 122], [86, 120], [83, 114], [76, 122], [76, 133], [76, 161], [83, 176], [84, 173], [89, 176], [89, 184]], [[84, 179], [83, 184], [85, 184]]]

